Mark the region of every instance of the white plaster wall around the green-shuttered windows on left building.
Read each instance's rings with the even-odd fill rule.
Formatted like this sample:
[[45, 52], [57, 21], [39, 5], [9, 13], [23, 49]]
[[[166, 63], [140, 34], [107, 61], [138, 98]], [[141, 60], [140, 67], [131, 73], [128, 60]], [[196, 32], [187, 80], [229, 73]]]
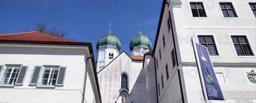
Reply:
[[[0, 64], [28, 65], [23, 86], [0, 86], [0, 102], [81, 102], [84, 80], [85, 49], [7, 47], [1, 46]], [[63, 87], [29, 86], [34, 66], [58, 65], [67, 66]], [[94, 93], [91, 81], [87, 79], [86, 101], [93, 102]]]

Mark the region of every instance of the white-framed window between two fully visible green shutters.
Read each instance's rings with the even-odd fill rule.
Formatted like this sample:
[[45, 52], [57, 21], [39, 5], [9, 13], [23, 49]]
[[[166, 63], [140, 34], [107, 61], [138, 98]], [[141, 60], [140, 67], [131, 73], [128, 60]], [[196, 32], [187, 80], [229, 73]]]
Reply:
[[44, 66], [42, 85], [55, 85], [59, 66]]

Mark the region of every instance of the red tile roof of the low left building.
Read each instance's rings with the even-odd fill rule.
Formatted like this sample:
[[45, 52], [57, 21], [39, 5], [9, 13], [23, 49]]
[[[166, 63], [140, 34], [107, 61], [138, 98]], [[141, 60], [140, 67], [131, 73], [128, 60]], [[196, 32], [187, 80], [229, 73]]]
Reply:
[[68, 40], [44, 34], [39, 31], [21, 32], [13, 34], [1, 34], [0, 40], [19, 40], [19, 41], [51, 41], [51, 42], [76, 42], [77, 40]]

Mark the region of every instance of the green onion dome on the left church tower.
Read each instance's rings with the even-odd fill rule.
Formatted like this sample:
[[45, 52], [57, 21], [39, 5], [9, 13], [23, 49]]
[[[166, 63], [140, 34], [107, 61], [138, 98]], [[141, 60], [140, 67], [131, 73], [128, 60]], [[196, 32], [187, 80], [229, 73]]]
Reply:
[[111, 34], [111, 31], [109, 30], [108, 34], [100, 37], [96, 45], [97, 50], [102, 47], [113, 47], [120, 51], [121, 43], [114, 34]]

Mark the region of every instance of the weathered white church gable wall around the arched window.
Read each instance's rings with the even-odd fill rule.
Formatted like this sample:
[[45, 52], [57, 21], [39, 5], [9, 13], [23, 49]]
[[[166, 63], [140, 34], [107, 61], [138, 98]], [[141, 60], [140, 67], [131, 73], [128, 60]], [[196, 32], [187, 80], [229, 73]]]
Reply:
[[128, 74], [127, 103], [145, 103], [145, 69], [142, 68], [143, 61], [132, 61], [124, 52], [111, 64], [98, 73], [102, 102], [115, 103], [119, 97], [122, 73]]

